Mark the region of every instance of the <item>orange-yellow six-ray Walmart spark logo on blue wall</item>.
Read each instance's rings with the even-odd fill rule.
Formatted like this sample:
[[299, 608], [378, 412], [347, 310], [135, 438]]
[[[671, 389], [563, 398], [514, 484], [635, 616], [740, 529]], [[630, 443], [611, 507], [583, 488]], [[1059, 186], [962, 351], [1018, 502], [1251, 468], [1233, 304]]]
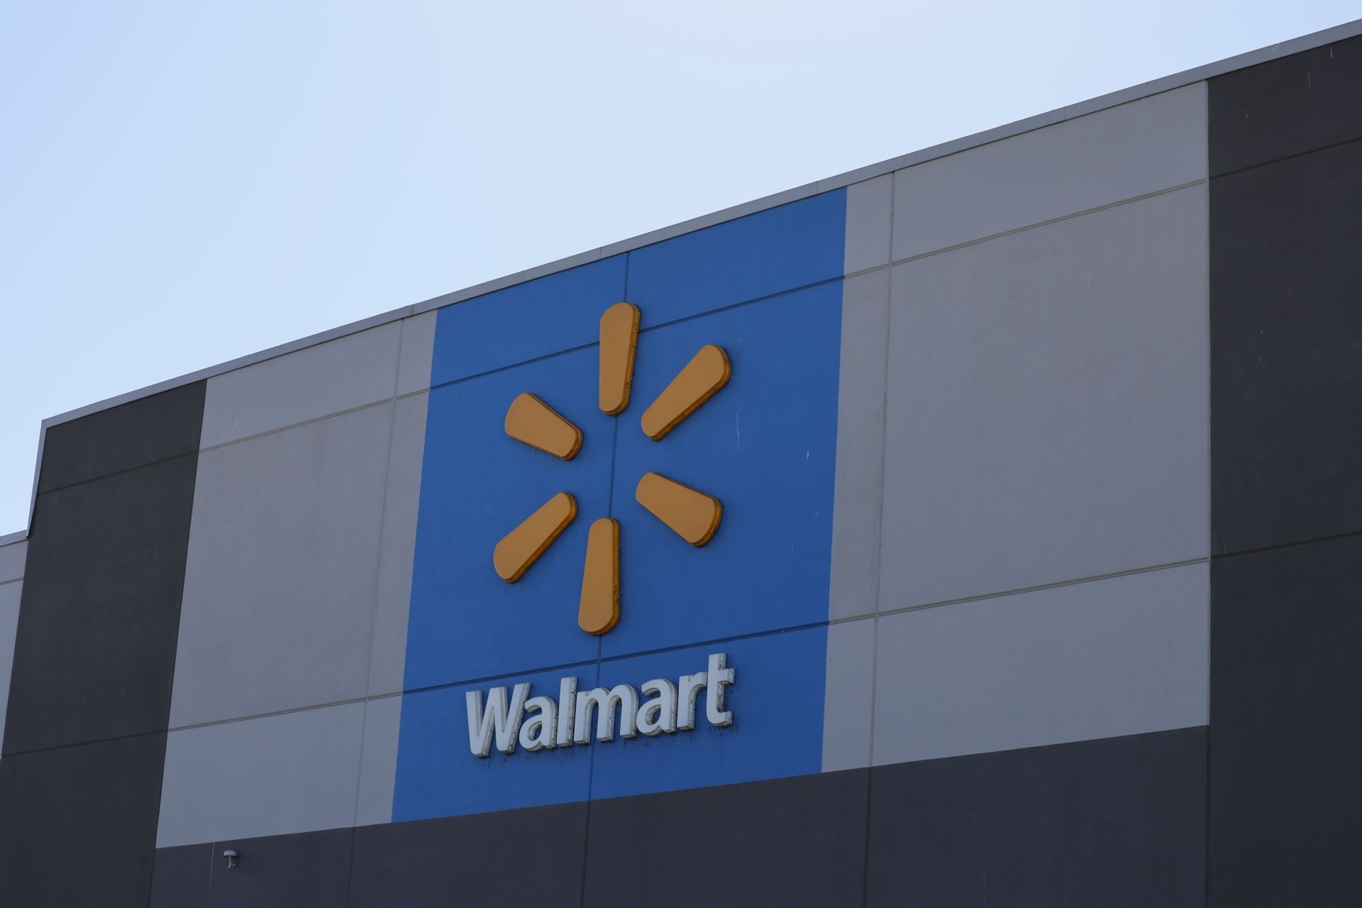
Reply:
[[[633, 354], [639, 343], [639, 308], [618, 302], [601, 316], [602, 412], [617, 417], [629, 406], [633, 385]], [[643, 433], [662, 441], [706, 400], [729, 384], [733, 369], [722, 347], [706, 344], [677, 373], [658, 399], [643, 412]], [[582, 449], [582, 430], [533, 393], [511, 402], [507, 434], [531, 448], [563, 460]], [[635, 490], [639, 504], [692, 546], [714, 538], [723, 516], [718, 498], [684, 486], [656, 472], [646, 472]], [[577, 516], [572, 493], [549, 498], [519, 527], [496, 545], [492, 564], [507, 583], [515, 583], [548, 551]], [[620, 621], [620, 523], [601, 517], [587, 535], [586, 566], [582, 572], [582, 604], [577, 625], [590, 634], [603, 634]]]

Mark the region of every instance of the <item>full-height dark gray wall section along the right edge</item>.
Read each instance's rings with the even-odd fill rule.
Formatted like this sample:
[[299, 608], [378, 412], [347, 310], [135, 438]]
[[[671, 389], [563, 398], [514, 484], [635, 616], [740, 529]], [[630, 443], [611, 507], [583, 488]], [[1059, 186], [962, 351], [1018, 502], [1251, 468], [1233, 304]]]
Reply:
[[1357, 39], [1211, 83], [1212, 905], [1362, 889], [1359, 88]]

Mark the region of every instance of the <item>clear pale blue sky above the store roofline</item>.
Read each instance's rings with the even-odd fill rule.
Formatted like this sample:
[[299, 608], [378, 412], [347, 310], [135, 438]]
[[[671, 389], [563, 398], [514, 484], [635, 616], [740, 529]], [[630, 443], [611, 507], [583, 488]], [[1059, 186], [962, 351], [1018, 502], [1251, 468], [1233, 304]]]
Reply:
[[11, 0], [0, 534], [45, 417], [1358, 15]]

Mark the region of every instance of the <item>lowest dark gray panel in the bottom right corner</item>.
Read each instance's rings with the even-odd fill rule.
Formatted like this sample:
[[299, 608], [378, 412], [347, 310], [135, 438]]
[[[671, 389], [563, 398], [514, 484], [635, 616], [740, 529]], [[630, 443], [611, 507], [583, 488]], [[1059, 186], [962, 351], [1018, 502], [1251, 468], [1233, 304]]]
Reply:
[[1362, 536], [1211, 568], [1209, 903], [1362, 893]]

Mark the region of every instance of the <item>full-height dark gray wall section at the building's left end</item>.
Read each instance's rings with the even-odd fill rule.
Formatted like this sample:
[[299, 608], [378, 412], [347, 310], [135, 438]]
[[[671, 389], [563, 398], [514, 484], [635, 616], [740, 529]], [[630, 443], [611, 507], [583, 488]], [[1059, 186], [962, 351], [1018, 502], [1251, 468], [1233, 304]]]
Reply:
[[14, 904], [146, 900], [202, 408], [196, 383], [48, 433], [0, 758]]

